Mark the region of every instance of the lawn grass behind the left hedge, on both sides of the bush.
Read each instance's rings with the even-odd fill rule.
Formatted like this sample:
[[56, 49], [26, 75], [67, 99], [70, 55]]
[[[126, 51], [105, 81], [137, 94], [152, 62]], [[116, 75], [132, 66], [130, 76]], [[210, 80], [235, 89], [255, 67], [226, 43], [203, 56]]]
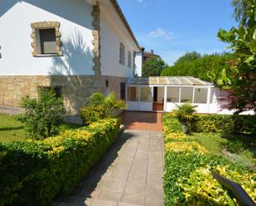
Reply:
[[[60, 132], [79, 127], [81, 126], [64, 122], [60, 125]], [[24, 125], [17, 121], [16, 116], [0, 113], [0, 141], [23, 141], [25, 139]]]

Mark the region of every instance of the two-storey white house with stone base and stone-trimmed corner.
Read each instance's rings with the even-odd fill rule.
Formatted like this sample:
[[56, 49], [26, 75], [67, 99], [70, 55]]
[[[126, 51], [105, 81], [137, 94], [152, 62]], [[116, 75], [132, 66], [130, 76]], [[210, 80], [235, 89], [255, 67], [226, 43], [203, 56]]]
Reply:
[[0, 46], [0, 105], [52, 87], [70, 113], [94, 92], [125, 98], [141, 51], [116, 0], [0, 0]]

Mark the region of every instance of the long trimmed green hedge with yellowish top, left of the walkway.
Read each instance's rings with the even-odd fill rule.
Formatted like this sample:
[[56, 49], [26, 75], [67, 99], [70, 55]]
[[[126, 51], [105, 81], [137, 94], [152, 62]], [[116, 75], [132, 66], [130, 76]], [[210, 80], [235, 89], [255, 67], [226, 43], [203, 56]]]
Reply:
[[44, 141], [0, 144], [0, 206], [45, 206], [69, 194], [118, 137], [119, 126], [109, 118]]

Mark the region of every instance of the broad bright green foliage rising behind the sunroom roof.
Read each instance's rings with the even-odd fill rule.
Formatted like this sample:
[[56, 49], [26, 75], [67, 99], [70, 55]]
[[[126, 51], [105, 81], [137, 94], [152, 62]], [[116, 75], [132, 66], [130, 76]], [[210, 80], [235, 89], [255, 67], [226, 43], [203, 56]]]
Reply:
[[162, 70], [162, 76], [194, 76], [215, 83], [222, 76], [222, 70], [229, 67], [232, 55], [229, 53], [200, 55], [196, 51], [181, 56], [173, 66]]

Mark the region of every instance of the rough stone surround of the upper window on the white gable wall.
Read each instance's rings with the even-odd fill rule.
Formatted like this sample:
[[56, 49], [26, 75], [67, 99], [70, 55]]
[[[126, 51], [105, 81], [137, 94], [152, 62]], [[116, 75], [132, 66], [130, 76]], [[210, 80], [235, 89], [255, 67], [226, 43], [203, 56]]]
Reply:
[[[60, 33], [60, 22], [34, 22], [31, 23], [31, 38], [32, 43], [31, 47], [33, 48], [32, 55], [36, 56], [52, 56], [52, 55], [63, 55], [61, 51], [62, 42], [60, 41], [61, 33]], [[56, 53], [54, 54], [41, 54], [41, 50], [39, 49], [40, 40], [38, 40], [38, 34], [36, 34], [41, 29], [55, 29], [56, 30]]]

